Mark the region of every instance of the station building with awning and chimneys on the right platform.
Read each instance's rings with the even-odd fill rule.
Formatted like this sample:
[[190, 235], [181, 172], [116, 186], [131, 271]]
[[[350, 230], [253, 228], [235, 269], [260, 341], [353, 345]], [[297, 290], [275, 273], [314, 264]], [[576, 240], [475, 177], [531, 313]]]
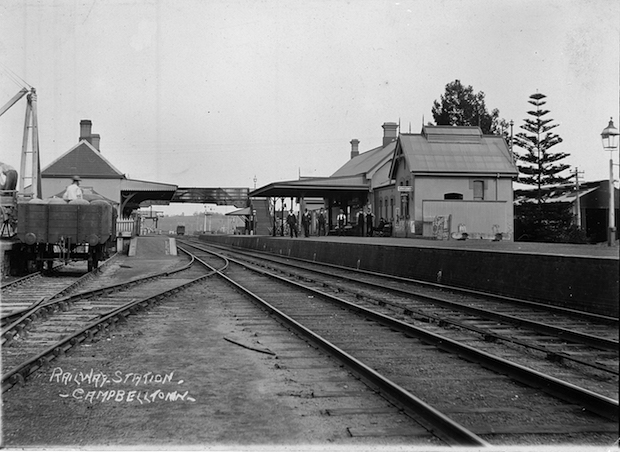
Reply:
[[297, 198], [302, 211], [306, 198], [320, 197], [330, 228], [340, 209], [353, 231], [357, 213], [371, 210], [375, 226], [385, 220], [396, 237], [513, 240], [518, 170], [502, 137], [479, 127], [382, 127], [381, 146], [360, 153], [351, 140], [349, 161], [330, 177], [272, 183], [250, 197]]

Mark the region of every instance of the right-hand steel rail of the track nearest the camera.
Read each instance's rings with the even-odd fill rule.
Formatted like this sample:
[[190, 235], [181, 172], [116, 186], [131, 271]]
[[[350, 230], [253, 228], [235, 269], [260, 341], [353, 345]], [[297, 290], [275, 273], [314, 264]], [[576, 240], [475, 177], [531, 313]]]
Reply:
[[[213, 253], [216, 254], [216, 253]], [[235, 262], [247, 269], [253, 270], [257, 273], [264, 274], [270, 278], [274, 278], [278, 281], [282, 281], [286, 284], [297, 286], [304, 289], [314, 295], [319, 295], [326, 298], [328, 301], [339, 305], [345, 306], [352, 311], [356, 311], [359, 314], [366, 316], [375, 321], [381, 322], [384, 325], [392, 328], [396, 331], [400, 331], [407, 335], [412, 335], [422, 339], [423, 341], [433, 344], [441, 350], [457, 354], [471, 362], [478, 363], [479, 365], [488, 368], [490, 370], [507, 375], [510, 378], [527, 384], [529, 386], [539, 388], [543, 392], [550, 394], [558, 399], [576, 403], [583, 406], [585, 409], [598, 414], [599, 416], [607, 419], [618, 421], [618, 401], [609, 397], [597, 394], [585, 388], [573, 385], [571, 383], [562, 381], [558, 378], [543, 374], [536, 370], [522, 366], [505, 360], [503, 358], [493, 356], [487, 352], [477, 350], [465, 344], [460, 344], [452, 339], [440, 336], [436, 333], [432, 333], [420, 328], [417, 328], [411, 324], [402, 322], [392, 317], [380, 314], [378, 312], [371, 311], [369, 309], [357, 306], [346, 300], [333, 296], [331, 294], [322, 292], [320, 290], [304, 286], [303, 284], [287, 280], [281, 276], [269, 273], [265, 270], [252, 267], [244, 264], [243, 262], [229, 258], [232, 262]]]

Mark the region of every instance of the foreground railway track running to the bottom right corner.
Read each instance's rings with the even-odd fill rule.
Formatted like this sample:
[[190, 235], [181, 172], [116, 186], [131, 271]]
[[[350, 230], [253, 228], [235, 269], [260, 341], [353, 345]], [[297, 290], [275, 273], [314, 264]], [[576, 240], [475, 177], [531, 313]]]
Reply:
[[222, 277], [230, 284], [449, 444], [617, 436], [617, 400], [347, 302], [298, 274], [284, 278], [229, 259]]

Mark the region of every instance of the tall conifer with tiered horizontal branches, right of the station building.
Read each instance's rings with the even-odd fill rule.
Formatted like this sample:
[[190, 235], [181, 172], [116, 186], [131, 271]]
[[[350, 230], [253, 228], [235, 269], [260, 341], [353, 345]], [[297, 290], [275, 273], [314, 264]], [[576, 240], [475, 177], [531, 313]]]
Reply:
[[545, 202], [545, 193], [541, 190], [543, 186], [563, 184], [572, 177], [560, 175], [562, 171], [570, 168], [570, 165], [559, 162], [570, 154], [551, 152], [551, 148], [560, 144], [562, 138], [551, 132], [559, 124], [551, 124], [553, 119], [544, 118], [549, 113], [549, 110], [542, 109], [547, 103], [544, 101], [546, 97], [540, 93], [530, 96], [528, 102], [534, 105], [536, 110], [528, 111], [532, 118], [524, 119], [521, 129], [525, 132], [519, 132], [514, 137], [514, 144], [525, 151], [523, 154], [515, 153], [517, 160], [522, 162], [521, 165], [517, 164], [520, 172], [517, 181], [537, 186], [538, 204]]

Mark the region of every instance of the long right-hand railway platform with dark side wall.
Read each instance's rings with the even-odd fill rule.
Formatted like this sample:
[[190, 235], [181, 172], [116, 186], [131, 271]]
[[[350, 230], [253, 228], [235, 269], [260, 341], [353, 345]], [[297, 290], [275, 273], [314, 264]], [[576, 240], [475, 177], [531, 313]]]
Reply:
[[618, 316], [618, 246], [394, 237], [201, 235], [206, 242]]

